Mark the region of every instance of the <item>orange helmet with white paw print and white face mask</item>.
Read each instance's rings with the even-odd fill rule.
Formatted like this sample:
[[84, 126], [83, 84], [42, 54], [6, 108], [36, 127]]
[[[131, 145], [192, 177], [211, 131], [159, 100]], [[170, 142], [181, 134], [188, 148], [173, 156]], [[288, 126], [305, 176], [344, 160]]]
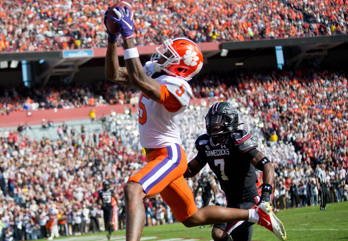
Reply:
[[[166, 54], [168, 51], [171, 54]], [[161, 58], [166, 60], [162, 64], [158, 63]], [[187, 38], [167, 39], [153, 51], [151, 61], [156, 72], [164, 71], [189, 81], [201, 70], [203, 54], [197, 44]]]

